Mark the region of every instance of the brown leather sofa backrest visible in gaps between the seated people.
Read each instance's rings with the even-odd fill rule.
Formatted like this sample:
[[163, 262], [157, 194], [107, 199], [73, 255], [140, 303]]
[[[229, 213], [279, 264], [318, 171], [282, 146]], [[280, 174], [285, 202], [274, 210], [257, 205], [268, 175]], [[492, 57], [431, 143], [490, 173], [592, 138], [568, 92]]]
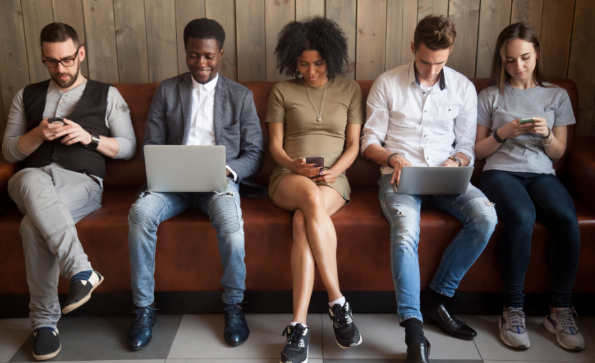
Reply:
[[[489, 79], [479, 78], [471, 79], [477, 92], [483, 90], [489, 85]], [[367, 99], [368, 93], [374, 81], [357, 81], [362, 89], [363, 99]], [[551, 81], [556, 85], [564, 88], [568, 92], [574, 116], [578, 120], [578, 89], [576, 84], [571, 79], [555, 79]], [[273, 85], [276, 82], [245, 82], [241, 83], [253, 92], [254, 103], [256, 106], [256, 112], [260, 118], [260, 127], [262, 128], [262, 134], [264, 136], [264, 149], [266, 150], [264, 156], [264, 166], [257, 172], [255, 179], [258, 184], [262, 186], [268, 186], [269, 176], [276, 163], [269, 153], [269, 128], [264, 122], [267, 115], [267, 105], [269, 103], [269, 95]], [[131, 84], [131, 83], [120, 83], [114, 86], [118, 88], [122, 97], [128, 102], [130, 108], [130, 115], [132, 118], [132, 124], [134, 126], [134, 132], [136, 133], [137, 140], [137, 152], [134, 159], [129, 161], [122, 160], [108, 160], [107, 161], [107, 172], [104, 180], [106, 188], [138, 188], [145, 181], [145, 165], [141, 158], [141, 149], [143, 147], [143, 138], [145, 131], [145, 121], [149, 107], [153, 98], [153, 94], [157, 89], [158, 83], [142, 83], [142, 84]], [[362, 104], [365, 111], [365, 102]], [[576, 131], [576, 124], [569, 127], [568, 140], [566, 146], [566, 152], [571, 147], [572, 140]], [[566, 156], [566, 154], [564, 154]], [[564, 157], [555, 162], [554, 168], [558, 175], [562, 175]], [[475, 172], [473, 173], [473, 179], [475, 183], [479, 181], [481, 176], [482, 168], [484, 166], [483, 161], [477, 161], [475, 163]], [[363, 159], [361, 155], [354, 164], [347, 170], [347, 178], [351, 186], [376, 186], [376, 181], [380, 176], [380, 168], [376, 163]]]

